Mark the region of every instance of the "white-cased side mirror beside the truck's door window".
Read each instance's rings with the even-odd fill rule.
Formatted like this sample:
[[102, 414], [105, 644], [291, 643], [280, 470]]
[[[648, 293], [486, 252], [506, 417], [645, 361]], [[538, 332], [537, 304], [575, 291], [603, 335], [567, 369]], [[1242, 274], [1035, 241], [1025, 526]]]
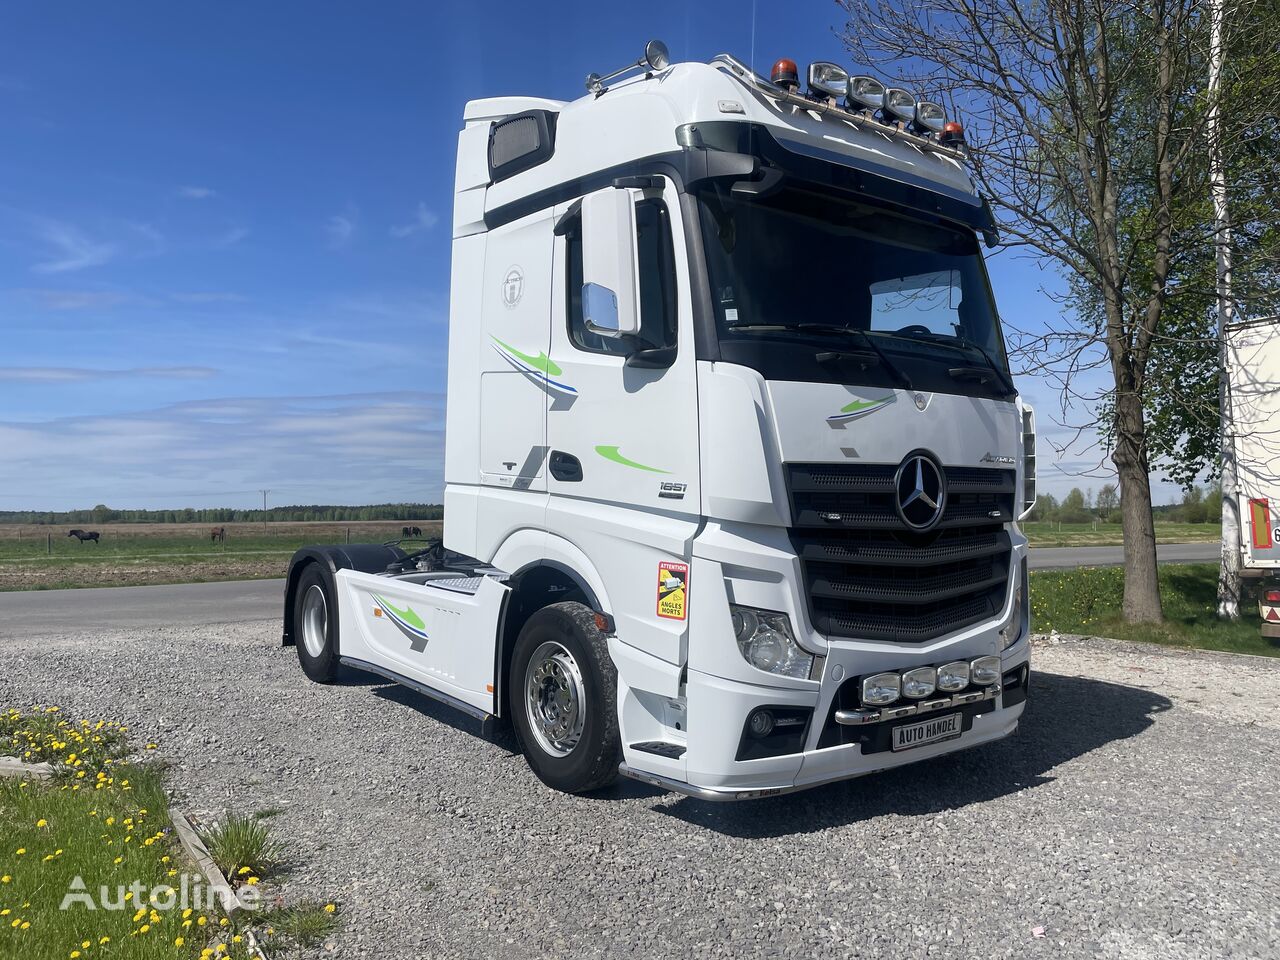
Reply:
[[582, 320], [600, 337], [640, 333], [636, 207], [631, 192], [605, 187], [582, 197]]

